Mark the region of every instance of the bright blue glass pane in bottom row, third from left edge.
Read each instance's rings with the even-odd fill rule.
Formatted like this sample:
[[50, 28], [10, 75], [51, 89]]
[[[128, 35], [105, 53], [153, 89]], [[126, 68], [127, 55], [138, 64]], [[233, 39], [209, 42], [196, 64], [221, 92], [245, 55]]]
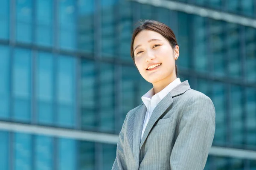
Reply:
[[48, 136], [35, 137], [35, 169], [53, 170], [53, 140]]

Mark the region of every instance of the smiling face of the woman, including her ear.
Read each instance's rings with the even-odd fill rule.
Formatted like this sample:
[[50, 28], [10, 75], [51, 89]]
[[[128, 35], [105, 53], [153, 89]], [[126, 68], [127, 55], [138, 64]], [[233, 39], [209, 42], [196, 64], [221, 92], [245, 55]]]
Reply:
[[161, 34], [143, 30], [135, 37], [133, 47], [135, 65], [146, 81], [153, 85], [159, 82], [169, 84], [177, 78], [175, 58], [179, 56], [178, 45], [173, 50]]

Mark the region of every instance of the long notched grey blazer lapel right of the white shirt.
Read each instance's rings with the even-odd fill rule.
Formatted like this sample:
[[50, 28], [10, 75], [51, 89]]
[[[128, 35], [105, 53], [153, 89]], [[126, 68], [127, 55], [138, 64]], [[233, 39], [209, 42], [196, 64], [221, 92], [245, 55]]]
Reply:
[[[154, 109], [150, 119], [148, 120], [148, 124], [145, 128], [145, 132], [143, 134], [143, 138], [140, 142], [140, 149], [142, 145], [144, 144], [145, 140], [148, 137], [148, 134], [150, 133], [152, 127], [154, 126], [155, 122], [160, 118], [160, 116], [172, 105], [173, 103], [173, 97], [178, 96], [180, 94], [185, 93], [187, 90], [190, 89], [189, 82], [186, 80], [179, 85], [177, 85], [172, 91], [170, 91], [156, 106]], [[145, 105], [144, 105], [145, 107]], [[145, 107], [146, 108], [146, 107]], [[144, 114], [145, 117], [145, 114]], [[135, 120], [136, 121], [136, 120]], [[144, 121], [144, 119], [143, 119]], [[143, 123], [142, 123], [143, 126]], [[135, 130], [135, 129], [134, 129]], [[137, 130], [139, 131], [139, 130]], [[141, 134], [142, 128], [140, 129], [140, 134]]]

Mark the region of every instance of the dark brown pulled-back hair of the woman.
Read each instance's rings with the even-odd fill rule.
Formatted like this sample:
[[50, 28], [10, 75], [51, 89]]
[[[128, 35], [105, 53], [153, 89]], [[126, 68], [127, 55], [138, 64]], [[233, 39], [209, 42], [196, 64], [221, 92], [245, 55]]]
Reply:
[[[159, 21], [154, 20], [145, 20], [145, 21], [139, 21], [139, 26], [137, 26], [134, 30], [134, 33], [132, 35], [131, 39], [131, 58], [134, 60], [134, 39], [137, 36], [137, 34], [140, 33], [140, 31], [143, 30], [151, 30], [155, 31], [159, 34], [161, 34], [166, 40], [169, 41], [172, 48], [175, 48], [177, 44], [177, 40], [175, 37], [175, 34], [173, 33], [172, 29], [169, 28], [169, 26], [166, 26], [166, 24], [161, 23]], [[135, 64], [135, 61], [134, 61]], [[177, 75], [177, 65], [175, 65], [175, 72]]]

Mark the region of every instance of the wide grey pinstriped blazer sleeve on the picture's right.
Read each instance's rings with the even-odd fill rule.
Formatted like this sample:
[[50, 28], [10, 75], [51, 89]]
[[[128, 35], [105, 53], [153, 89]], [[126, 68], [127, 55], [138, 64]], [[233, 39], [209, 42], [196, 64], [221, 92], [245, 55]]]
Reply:
[[182, 111], [170, 156], [171, 170], [204, 170], [215, 133], [215, 108], [204, 95], [193, 96]]

